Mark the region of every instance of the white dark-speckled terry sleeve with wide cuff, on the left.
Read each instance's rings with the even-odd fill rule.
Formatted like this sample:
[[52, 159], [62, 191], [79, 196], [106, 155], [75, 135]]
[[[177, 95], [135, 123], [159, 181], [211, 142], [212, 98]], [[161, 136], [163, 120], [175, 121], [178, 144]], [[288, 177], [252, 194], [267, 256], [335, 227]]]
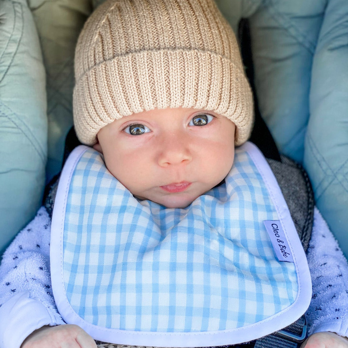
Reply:
[[50, 218], [41, 207], [14, 239], [0, 266], [0, 347], [19, 348], [44, 325], [64, 324], [51, 289]]

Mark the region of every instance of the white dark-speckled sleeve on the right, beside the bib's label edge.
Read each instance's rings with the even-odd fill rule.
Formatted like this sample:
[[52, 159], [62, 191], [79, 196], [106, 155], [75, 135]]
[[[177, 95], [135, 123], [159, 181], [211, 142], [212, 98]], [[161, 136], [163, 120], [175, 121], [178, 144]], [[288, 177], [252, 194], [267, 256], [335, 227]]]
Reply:
[[309, 334], [331, 331], [347, 337], [348, 263], [317, 208], [307, 260], [313, 287], [306, 312]]

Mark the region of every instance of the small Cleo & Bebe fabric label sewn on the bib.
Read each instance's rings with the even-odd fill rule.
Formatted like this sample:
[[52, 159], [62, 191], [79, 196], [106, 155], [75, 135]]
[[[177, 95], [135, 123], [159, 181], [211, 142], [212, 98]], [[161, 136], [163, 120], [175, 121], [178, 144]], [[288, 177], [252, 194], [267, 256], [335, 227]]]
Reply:
[[263, 221], [279, 261], [294, 262], [279, 220]]

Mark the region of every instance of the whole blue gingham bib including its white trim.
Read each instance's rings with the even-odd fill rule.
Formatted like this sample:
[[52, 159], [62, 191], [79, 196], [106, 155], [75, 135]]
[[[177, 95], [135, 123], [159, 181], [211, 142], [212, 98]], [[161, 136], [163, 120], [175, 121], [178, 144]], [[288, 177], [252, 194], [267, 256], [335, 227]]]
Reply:
[[184, 209], [135, 198], [81, 145], [61, 174], [50, 246], [58, 311], [105, 342], [244, 342], [291, 324], [310, 301], [290, 212], [252, 143], [236, 149], [222, 185]]

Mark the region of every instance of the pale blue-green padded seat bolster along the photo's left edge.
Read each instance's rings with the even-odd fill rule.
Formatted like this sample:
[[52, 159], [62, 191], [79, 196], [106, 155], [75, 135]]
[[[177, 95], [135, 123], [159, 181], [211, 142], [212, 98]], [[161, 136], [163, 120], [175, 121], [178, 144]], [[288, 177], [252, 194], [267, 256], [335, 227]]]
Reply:
[[26, 0], [0, 1], [0, 254], [41, 205], [45, 71]]

